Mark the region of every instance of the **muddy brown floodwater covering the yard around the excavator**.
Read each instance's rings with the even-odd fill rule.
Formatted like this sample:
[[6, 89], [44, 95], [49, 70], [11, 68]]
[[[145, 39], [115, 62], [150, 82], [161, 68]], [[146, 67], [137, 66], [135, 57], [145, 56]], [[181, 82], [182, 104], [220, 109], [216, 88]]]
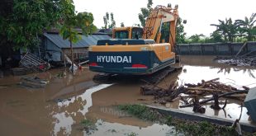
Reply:
[[[201, 79], [220, 77], [220, 82], [234, 87], [256, 87], [255, 68], [215, 63], [211, 56], [182, 56], [181, 59], [183, 70], [169, 75], [159, 86], [167, 87], [173, 81], [197, 83]], [[87, 68], [75, 76], [69, 73], [66, 77], [56, 76], [63, 71], [55, 69], [0, 78], [0, 135], [172, 135], [172, 127], [138, 120], [116, 110], [116, 105], [127, 103], [155, 105], [153, 96], [140, 95], [142, 82], [130, 79], [107, 84], [93, 82], [92, 77], [97, 73]], [[50, 83], [42, 88], [18, 85], [21, 77], [35, 76]], [[178, 108], [180, 105], [173, 102], [164, 107]], [[192, 112], [192, 108], [180, 110]], [[246, 112], [243, 108], [241, 121], [250, 123]], [[225, 111], [206, 106], [206, 115], [235, 120], [239, 114], [239, 101], [229, 101]], [[78, 124], [84, 119], [93, 120], [97, 129], [90, 132], [79, 129]]]

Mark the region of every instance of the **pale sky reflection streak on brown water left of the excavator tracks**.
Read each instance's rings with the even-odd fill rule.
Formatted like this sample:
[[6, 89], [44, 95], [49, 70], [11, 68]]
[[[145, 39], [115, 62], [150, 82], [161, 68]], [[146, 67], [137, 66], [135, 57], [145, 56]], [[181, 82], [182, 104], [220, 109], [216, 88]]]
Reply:
[[70, 134], [71, 125], [79, 124], [79, 122], [84, 119], [84, 115], [88, 112], [88, 108], [92, 106], [92, 93], [110, 87], [111, 85], [112, 84], [101, 84], [89, 88], [84, 91], [82, 95], [69, 98], [68, 101], [58, 102], [58, 111], [51, 115], [55, 118], [54, 133], [59, 134], [59, 132], [65, 132], [65, 134]]

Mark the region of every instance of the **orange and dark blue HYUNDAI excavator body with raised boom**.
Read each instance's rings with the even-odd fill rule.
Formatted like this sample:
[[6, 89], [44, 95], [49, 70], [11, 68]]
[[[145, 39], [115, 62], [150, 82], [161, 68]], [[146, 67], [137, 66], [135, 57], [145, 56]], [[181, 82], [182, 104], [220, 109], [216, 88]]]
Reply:
[[178, 6], [157, 6], [149, 13], [143, 29], [114, 29], [114, 39], [98, 40], [97, 45], [89, 47], [89, 69], [99, 73], [145, 75], [168, 67], [175, 63], [177, 20]]

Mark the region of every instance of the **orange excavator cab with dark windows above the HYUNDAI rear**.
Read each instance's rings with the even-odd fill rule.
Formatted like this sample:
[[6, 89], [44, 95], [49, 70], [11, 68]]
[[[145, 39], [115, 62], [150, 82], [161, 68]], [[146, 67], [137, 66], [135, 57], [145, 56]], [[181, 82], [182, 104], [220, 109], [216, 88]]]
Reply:
[[113, 29], [113, 39], [140, 39], [142, 37], [143, 28], [130, 26], [130, 27], [116, 27]]

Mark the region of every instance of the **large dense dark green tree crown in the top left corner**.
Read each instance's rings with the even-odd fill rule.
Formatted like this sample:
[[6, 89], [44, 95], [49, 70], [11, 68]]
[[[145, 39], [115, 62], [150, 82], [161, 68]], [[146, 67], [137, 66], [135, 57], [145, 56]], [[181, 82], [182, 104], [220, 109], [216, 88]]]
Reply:
[[[32, 48], [39, 44], [38, 35], [55, 26], [62, 15], [64, 0], [10, 0], [1, 2], [1, 45], [14, 49]], [[9, 44], [7, 44], [9, 43]]]

